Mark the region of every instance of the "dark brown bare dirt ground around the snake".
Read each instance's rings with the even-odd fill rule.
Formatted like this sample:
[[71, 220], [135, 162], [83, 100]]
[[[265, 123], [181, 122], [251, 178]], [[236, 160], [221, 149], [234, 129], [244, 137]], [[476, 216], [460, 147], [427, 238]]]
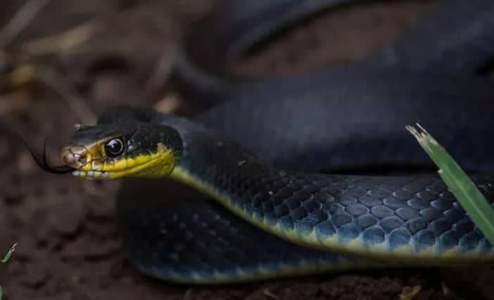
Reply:
[[[175, 46], [211, 1], [32, 2], [44, 1], [14, 37], [0, 30], [0, 252], [18, 243], [0, 266], [4, 299], [400, 299], [413, 287], [414, 299], [494, 298], [489, 268], [369, 270], [220, 287], [141, 275], [127, 263], [115, 225], [118, 182], [46, 174], [12, 132], [38, 150], [48, 137], [56, 162], [73, 124], [93, 122], [108, 105], [187, 111], [189, 99], [169, 80]], [[0, 27], [23, 2], [1, 1]], [[322, 13], [232, 72], [272, 76], [354, 60], [391, 42], [430, 6], [385, 2]]]

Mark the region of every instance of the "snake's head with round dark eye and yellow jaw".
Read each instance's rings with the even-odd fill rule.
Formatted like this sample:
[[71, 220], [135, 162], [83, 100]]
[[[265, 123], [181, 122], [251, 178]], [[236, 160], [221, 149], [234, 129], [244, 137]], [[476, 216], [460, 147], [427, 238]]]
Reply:
[[80, 178], [160, 177], [173, 171], [182, 149], [175, 129], [132, 120], [84, 126], [61, 155], [72, 175]]

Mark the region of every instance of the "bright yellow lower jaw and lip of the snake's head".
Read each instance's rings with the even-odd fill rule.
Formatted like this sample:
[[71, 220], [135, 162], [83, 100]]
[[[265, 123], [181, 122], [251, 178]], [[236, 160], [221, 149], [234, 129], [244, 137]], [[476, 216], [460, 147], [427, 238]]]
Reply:
[[88, 162], [72, 171], [72, 175], [84, 179], [157, 178], [170, 174], [178, 159], [171, 150], [158, 145], [158, 151], [152, 154], [124, 157], [111, 163]]

